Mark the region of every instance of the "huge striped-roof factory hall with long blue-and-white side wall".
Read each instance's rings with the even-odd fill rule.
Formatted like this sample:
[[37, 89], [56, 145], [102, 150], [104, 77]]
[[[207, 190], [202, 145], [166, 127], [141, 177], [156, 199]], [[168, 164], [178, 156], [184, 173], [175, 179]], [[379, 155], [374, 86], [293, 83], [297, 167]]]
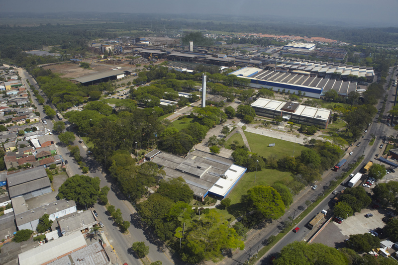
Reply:
[[291, 94], [301, 93], [307, 97], [315, 98], [320, 98], [321, 95], [330, 89], [336, 90], [339, 95], [343, 96], [357, 89], [357, 83], [355, 82], [311, 77], [306, 72], [284, 73], [245, 67], [228, 75], [249, 79], [249, 86], [252, 88], [271, 88], [273, 91], [282, 91]]

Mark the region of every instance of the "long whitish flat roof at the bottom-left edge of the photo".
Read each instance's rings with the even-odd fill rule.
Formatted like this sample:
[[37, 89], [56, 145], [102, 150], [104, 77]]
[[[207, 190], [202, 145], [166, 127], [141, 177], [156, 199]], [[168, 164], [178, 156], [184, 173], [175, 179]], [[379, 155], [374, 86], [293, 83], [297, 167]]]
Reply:
[[19, 265], [43, 264], [56, 257], [86, 246], [87, 243], [83, 234], [78, 231], [22, 252], [18, 255]]

